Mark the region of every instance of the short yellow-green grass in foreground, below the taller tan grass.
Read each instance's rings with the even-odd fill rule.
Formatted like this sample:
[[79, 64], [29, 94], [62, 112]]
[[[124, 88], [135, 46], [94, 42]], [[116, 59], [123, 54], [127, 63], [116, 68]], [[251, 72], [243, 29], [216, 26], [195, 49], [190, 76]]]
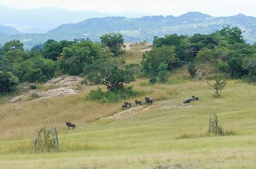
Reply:
[[[171, 86], [175, 88], [169, 85], [169, 90]], [[178, 93], [153, 105], [81, 120], [75, 131], [62, 129], [57, 153], [30, 153], [30, 138], [2, 141], [0, 168], [255, 168], [256, 87], [228, 81], [221, 98], [214, 98], [203, 81], [177, 87]], [[150, 88], [167, 89], [165, 85]], [[183, 104], [191, 95], [200, 100]], [[206, 136], [213, 113], [224, 129], [238, 131], [236, 135]], [[179, 139], [183, 135], [194, 138]]]

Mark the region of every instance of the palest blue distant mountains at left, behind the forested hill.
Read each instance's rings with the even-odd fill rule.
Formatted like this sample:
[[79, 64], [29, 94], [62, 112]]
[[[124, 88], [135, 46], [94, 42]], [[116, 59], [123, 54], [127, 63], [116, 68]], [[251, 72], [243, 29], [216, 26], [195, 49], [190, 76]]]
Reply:
[[142, 17], [150, 14], [129, 11], [110, 14], [96, 11], [69, 11], [48, 7], [21, 10], [0, 6], [0, 25], [16, 28], [22, 33], [46, 33], [62, 24], [77, 23], [92, 17], [115, 15]]

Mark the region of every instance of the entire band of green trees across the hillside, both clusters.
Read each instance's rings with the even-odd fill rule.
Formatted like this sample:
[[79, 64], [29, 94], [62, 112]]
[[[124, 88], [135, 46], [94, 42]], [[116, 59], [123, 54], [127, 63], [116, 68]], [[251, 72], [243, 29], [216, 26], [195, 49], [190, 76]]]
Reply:
[[115, 59], [124, 47], [119, 33], [103, 35], [101, 43], [49, 39], [29, 51], [21, 41], [9, 41], [0, 48], [0, 92], [13, 91], [23, 82], [34, 83], [35, 88], [36, 82], [63, 74], [85, 76], [87, 85], [115, 90], [134, 81], [135, 72], [144, 72], [151, 82], [166, 82], [171, 70], [187, 64], [192, 76], [198, 69], [211, 68], [225, 76], [256, 81], [256, 44], [246, 44], [238, 27], [226, 26], [208, 35], [155, 36], [153, 49], [144, 53], [141, 65]]

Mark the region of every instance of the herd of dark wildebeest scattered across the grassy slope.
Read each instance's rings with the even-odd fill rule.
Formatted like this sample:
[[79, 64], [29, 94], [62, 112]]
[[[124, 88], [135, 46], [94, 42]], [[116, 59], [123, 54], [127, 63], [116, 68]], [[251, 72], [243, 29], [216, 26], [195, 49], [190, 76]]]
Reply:
[[[190, 101], [198, 101], [199, 98], [192, 96], [191, 99], [185, 100], [183, 103], [190, 103]], [[141, 100], [134, 100], [136, 105], [142, 105], [142, 101]], [[149, 97], [145, 97], [145, 101], [147, 104], [149, 103], [153, 103], [154, 99], [153, 98], [149, 98]], [[127, 108], [131, 108], [131, 102], [127, 102], [125, 101], [124, 104], [122, 105], [122, 109], [127, 109]], [[72, 127], [72, 130], [75, 129], [75, 124], [71, 123], [71, 122], [65, 122], [66, 125], [69, 127]]]

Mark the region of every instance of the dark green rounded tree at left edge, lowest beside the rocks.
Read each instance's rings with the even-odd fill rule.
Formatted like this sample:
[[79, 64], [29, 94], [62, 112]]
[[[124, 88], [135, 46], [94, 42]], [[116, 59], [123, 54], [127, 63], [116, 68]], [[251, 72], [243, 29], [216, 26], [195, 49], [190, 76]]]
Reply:
[[11, 72], [0, 71], [0, 93], [10, 92], [16, 89], [18, 78]]

